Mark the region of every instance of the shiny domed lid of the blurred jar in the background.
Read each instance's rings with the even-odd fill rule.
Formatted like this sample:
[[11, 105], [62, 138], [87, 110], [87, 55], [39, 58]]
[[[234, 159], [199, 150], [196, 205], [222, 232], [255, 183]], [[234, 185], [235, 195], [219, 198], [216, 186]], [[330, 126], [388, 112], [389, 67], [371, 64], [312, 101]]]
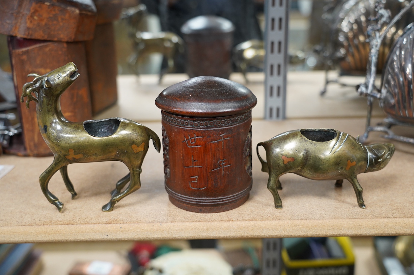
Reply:
[[183, 24], [181, 32], [184, 34], [212, 34], [229, 33], [234, 31], [230, 20], [215, 15], [200, 15]]

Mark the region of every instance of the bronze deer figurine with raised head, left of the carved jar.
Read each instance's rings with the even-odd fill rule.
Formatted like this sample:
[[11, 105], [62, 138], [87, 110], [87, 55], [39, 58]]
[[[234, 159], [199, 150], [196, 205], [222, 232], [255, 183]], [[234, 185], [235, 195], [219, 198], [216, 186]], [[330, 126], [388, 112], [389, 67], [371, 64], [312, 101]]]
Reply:
[[[62, 212], [63, 203], [48, 190], [51, 177], [60, 170], [72, 199], [77, 195], [67, 175], [67, 165], [96, 161], [119, 160], [127, 165], [130, 173], [116, 183], [111, 200], [102, 207], [111, 211], [115, 203], [141, 187], [141, 165], [153, 140], [156, 151], [160, 151], [158, 136], [149, 128], [125, 118], [112, 117], [104, 120], [71, 122], [60, 110], [60, 96], [78, 77], [77, 67], [67, 63], [43, 76], [29, 74], [35, 79], [24, 84], [20, 101], [26, 99], [37, 103], [39, 129], [55, 158], [40, 178], [40, 187], [48, 201]], [[35, 96], [33, 96], [36, 95]], [[130, 181], [129, 186], [121, 192]]]

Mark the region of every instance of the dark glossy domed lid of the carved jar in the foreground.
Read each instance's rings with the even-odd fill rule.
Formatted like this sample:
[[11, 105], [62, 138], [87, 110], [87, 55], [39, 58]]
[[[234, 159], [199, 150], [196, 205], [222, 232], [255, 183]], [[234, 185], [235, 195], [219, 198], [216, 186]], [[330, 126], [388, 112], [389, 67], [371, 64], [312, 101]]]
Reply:
[[175, 115], [224, 117], [251, 110], [257, 98], [248, 88], [219, 77], [194, 77], [169, 86], [155, 105]]

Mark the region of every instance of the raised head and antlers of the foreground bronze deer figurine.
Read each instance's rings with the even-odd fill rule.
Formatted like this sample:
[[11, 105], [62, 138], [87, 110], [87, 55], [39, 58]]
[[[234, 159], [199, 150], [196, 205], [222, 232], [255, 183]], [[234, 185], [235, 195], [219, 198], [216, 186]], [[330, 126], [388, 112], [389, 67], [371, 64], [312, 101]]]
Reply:
[[76, 65], [73, 62], [69, 62], [45, 75], [29, 74], [28, 77], [35, 78], [33, 81], [23, 85], [23, 93], [20, 97], [20, 101], [23, 102], [27, 96], [27, 108], [29, 108], [31, 100], [39, 103], [37, 98], [41, 90], [50, 96], [60, 96], [79, 77], [79, 73], [77, 72]]

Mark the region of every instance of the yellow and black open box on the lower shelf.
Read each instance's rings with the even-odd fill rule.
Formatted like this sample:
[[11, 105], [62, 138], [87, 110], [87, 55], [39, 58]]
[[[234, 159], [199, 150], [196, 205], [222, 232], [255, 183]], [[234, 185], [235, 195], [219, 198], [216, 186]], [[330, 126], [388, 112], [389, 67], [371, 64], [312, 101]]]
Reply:
[[[355, 257], [351, 238], [334, 238], [344, 252], [344, 258], [292, 260], [286, 248], [282, 249], [284, 274], [286, 275], [353, 275]], [[283, 274], [283, 272], [282, 272]]]

